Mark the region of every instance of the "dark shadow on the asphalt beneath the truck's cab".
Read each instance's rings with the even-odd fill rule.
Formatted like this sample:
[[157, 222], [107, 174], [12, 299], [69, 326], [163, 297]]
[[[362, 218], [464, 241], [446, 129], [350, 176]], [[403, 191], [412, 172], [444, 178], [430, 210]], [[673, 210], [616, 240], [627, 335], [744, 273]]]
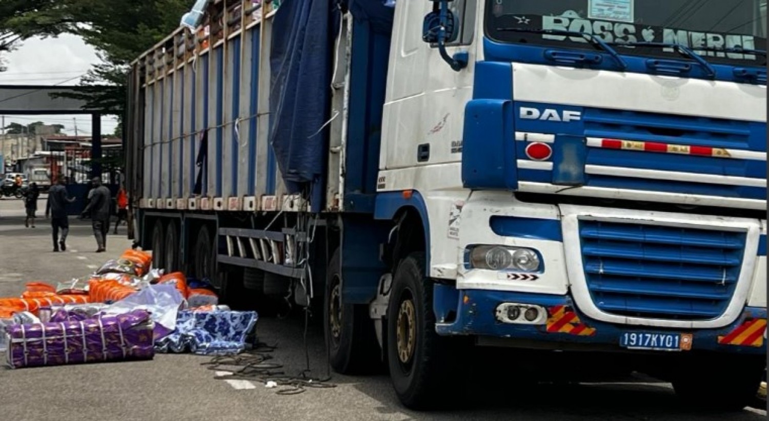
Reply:
[[[261, 341], [277, 346], [276, 362], [286, 373], [300, 372], [305, 363], [305, 323], [301, 314], [279, 320], [262, 317], [257, 334]], [[328, 373], [322, 314], [314, 314], [308, 324], [306, 343], [313, 376]], [[493, 360], [491, 360], [493, 361]], [[485, 373], [485, 374], [483, 374]], [[474, 397], [468, 405], [450, 411], [414, 412], [398, 402], [386, 373], [371, 376], [342, 376], [331, 371], [331, 383], [351, 386], [375, 399], [378, 413], [404, 419], [730, 419], [757, 420], [764, 416], [744, 409], [740, 413], [709, 413], [684, 406], [668, 383], [633, 374], [618, 383], [538, 383], [514, 370], [494, 370], [486, 366], [471, 380]], [[459, 385], [446, 385], [447, 387]], [[323, 393], [323, 392], [321, 392]], [[755, 409], [765, 410], [764, 402]]]

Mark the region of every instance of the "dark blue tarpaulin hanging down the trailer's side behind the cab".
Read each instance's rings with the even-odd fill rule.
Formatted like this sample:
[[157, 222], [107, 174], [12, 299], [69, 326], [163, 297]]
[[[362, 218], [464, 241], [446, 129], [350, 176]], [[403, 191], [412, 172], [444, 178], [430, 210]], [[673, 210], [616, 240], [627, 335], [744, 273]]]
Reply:
[[328, 0], [287, 0], [275, 14], [270, 144], [291, 194], [325, 181], [325, 128], [331, 118], [331, 67], [340, 18]]

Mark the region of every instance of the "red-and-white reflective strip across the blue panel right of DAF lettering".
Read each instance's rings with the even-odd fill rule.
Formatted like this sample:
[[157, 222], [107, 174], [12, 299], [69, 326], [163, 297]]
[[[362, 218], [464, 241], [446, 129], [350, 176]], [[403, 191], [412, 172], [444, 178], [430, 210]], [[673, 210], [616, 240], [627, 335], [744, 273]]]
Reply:
[[687, 144], [666, 144], [659, 142], [625, 141], [609, 138], [588, 138], [591, 148], [621, 149], [623, 151], [657, 152], [661, 154], [683, 154], [699, 157], [721, 157], [766, 161], [766, 152], [744, 151], [741, 149], [710, 148], [706, 146], [690, 146]]

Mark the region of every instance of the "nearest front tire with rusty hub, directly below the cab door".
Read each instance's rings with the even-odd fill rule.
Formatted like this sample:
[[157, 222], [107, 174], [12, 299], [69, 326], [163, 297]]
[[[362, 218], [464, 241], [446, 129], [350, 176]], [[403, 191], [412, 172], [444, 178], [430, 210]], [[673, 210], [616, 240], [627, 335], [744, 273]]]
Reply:
[[409, 409], [455, 407], [467, 403], [471, 343], [435, 332], [433, 281], [424, 275], [424, 260], [424, 253], [411, 254], [395, 271], [387, 312], [390, 378]]

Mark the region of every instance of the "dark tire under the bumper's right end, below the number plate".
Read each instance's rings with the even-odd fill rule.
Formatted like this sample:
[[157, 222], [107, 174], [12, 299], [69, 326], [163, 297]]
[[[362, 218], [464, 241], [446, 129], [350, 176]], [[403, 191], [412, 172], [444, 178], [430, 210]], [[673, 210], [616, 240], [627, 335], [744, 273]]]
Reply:
[[756, 399], [765, 367], [764, 356], [714, 356], [681, 364], [672, 383], [684, 404], [740, 411]]

